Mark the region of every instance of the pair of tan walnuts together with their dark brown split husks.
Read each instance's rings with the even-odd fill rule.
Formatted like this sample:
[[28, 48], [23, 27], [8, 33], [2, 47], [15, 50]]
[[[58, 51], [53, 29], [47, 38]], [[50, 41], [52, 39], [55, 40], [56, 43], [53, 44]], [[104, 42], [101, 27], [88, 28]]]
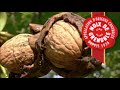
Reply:
[[[63, 12], [43, 26], [30, 24], [32, 34], [19, 34], [0, 48], [0, 64], [18, 77], [40, 77], [54, 70], [63, 77], [84, 77], [101, 63], [91, 57], [82, 39], [84, 18]], [[39, 28], [38, 28], [39, 27]]]

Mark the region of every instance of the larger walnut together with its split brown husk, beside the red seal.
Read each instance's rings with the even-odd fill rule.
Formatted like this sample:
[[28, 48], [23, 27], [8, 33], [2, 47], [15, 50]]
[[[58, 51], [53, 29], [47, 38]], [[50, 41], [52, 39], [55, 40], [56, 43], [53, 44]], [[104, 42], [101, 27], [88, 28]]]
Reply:
[[36, 41], [40, 59], [63, 77], [84, 77], [101, 67], [82, 39], [84, 18], [63, 12], [48, 19]]

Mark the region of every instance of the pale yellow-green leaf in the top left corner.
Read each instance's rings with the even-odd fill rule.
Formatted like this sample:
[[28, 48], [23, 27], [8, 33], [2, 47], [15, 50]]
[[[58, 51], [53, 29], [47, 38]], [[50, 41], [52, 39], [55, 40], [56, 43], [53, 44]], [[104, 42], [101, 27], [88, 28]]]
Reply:
[[6, 21], [7, 21], [6, 12], [0, 12], [0, 31], [2, 31], [3, 28], [5, 27]]

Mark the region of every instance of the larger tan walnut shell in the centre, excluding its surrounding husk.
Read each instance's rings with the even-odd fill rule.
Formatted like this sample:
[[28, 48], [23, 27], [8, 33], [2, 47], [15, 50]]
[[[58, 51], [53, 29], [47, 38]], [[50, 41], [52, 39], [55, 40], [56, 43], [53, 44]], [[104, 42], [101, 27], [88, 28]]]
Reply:
[[78, 30], [63, 20], [59, 20], [50, 28], [44, 39], [45, 55], [58, 68], [76, 70], [75, 59], [82, 55], [83, 40]]

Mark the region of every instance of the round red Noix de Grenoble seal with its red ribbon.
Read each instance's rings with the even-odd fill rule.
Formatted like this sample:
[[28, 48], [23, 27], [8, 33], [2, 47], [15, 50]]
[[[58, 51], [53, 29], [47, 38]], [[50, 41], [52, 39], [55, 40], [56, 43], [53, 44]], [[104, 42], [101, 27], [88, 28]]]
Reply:
[[92, 48], [92, 56], [104, 63], [103, 51], [115, 44], [118, 30], [107, 16], [99, 12], [96, 13], [84, 21], [82, 37], [86, 44]]

